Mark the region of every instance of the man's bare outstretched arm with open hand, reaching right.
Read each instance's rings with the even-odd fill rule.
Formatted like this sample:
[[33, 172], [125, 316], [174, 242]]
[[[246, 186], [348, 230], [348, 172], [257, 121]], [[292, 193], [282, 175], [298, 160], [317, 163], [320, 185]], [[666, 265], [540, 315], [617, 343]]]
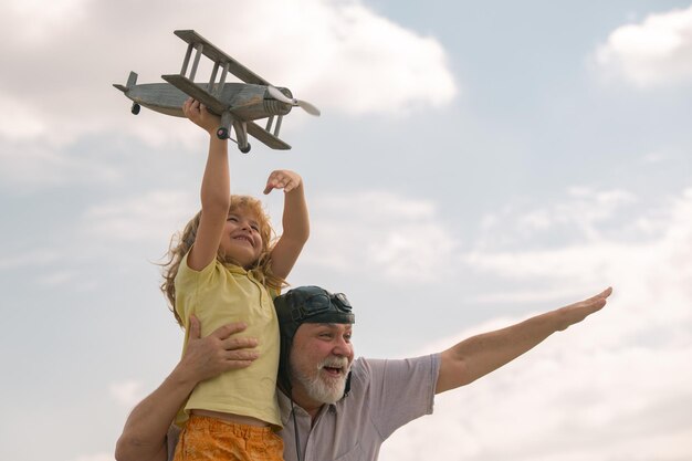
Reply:
[[516, 325], [462, 340], [441, 354], [436, 394], [473, 383], [531, 350], [555, 332], [581, 322], [606, 305], [612, 289]]

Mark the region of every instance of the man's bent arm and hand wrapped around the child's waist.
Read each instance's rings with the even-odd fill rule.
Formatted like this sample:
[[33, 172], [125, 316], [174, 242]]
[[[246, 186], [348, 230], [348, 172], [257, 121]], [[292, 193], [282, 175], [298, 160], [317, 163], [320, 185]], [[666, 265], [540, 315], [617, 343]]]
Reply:
[[172, 373], [132, 411], [115, 447], [117, 461], [166, 461], [166, 434], [178, 409], [198, 383], [230, 369], [245, 368], [258, 358], [256, 339], [235, 338], [242, 323], [219, 327], [200, 338], [199, 321], [190, 317], [188, 347]]

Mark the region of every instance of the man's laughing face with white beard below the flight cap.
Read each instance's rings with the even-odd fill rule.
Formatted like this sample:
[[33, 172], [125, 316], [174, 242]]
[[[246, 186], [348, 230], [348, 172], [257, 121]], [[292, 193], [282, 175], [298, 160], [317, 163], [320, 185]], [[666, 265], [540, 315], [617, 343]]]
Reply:
[[298, 405], [321, 406], [342, 398], [354, 359], [350, 335], [350, 324], [304, 323], [295, 332], [290, 363]]

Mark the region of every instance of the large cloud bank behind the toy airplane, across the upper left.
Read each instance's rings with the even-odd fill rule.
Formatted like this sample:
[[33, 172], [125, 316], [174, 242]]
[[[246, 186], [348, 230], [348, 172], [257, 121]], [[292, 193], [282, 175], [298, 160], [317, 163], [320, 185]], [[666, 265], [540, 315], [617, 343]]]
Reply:
[[0, 19], [7, 36], [0, 59], [12, 70], [0, 76], [9, 103], [0, 136], [11, 139], [39, 136], [65, 144], [114, 127], [147, 142], [186, 137], [158, 114], [143, 129], [143, 116], [133, 117], [127, 101], [111, 86], [124, 83], [130, 70], [141, 83], [178, 72], [186, 45], [172, 31], [181, 28], [196, 29], [323, 109], [392, 115], [439, 107], [457, 93], [447, 53], [434, 38], [396, 24], [358, 0], [252, 1], [238, 8], [221, 0], [25, 3], [36, 2], [12, 0]]

